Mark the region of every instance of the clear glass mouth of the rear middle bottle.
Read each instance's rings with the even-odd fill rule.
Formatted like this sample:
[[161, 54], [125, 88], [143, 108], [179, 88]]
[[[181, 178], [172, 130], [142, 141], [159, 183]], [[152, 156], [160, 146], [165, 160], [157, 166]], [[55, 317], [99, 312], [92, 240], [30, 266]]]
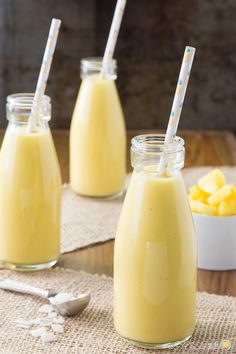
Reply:
[[[87, 76], [98, 75], [102, 70], [102, 57], [89, 57], [83, 58], [80, 62], [81, 78]], [[110, 65], [107, 68], [106, 78], [115, 80], [117, 77], [117, 61], [112, 59]]]

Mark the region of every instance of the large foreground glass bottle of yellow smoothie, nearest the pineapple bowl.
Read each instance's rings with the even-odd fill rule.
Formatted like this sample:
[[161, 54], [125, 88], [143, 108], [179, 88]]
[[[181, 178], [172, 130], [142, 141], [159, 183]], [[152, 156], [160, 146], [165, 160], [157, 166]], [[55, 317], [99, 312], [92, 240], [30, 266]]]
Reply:
[[[165, 153], [167, 170], [158, 173]], [[170, 348], [195, 327], [196, 243], [181, 176], [184, 141], [132, 140], [134, 172], [121, 211], [114, 256], [114, 323], [142, 347]]]

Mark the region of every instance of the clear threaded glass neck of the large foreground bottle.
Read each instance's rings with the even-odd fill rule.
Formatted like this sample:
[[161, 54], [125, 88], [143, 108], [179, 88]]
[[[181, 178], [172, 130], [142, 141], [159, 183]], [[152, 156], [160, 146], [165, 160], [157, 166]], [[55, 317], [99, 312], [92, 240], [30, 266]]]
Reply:
[[184, 167], [184, 140], [178, 136], [164, 144], [165, 135], [138, 135], [131, 141], [131, 164], [135, 171], [161, 175], [160, 163], [165, 161], [165, 174], [177, 175]]

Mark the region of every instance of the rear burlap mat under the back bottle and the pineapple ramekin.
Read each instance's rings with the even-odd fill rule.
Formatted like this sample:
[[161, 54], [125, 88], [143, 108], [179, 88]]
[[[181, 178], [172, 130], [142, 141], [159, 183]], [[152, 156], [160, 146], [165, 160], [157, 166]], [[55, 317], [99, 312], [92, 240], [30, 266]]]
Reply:
[[[195, 184], [213, 167], [186, 168], [186, 186]], [[220, 167], [227, 181], [236, 184], [236, 167]], [[71, 252], [115, 238], [123, 198], [114, 200], [82, 198], [68, 186], [63, 188], [61, 252]]]

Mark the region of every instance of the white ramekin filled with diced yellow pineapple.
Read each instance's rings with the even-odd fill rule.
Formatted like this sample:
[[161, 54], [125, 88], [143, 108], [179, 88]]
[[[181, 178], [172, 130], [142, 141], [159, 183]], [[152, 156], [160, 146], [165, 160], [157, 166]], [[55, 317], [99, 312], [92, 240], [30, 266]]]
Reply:
[[189, 188], [198, 243], [198, 267], [236, 269], [236, 188], [219, 169]]

